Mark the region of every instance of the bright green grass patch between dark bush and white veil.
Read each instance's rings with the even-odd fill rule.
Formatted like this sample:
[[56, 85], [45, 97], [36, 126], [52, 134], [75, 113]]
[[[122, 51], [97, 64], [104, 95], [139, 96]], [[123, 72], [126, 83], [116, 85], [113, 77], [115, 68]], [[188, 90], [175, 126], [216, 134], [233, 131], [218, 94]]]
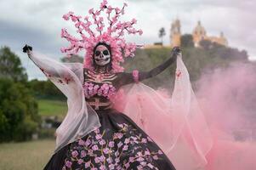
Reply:
[[65, 101], [38, 99], [38, 112], [41, 116], [59, 116], [64, 118], [67, 105]]

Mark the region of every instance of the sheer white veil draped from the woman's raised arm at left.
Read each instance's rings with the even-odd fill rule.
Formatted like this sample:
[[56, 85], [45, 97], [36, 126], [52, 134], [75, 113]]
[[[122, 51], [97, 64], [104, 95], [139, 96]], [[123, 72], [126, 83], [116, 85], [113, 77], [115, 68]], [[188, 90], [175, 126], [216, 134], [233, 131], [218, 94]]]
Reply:
[[67, 98], [68, 111], [56, 130], [54, 152], [100, 127], [98, 115], [86, 105], [82, 90], [82, 64], [63, 64], [34, 52], [30, 52], [29, 57]]

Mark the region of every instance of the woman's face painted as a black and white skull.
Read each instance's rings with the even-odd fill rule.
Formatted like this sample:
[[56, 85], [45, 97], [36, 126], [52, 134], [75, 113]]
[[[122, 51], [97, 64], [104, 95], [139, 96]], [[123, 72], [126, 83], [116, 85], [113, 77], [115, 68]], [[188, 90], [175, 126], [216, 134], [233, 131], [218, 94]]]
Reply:
[[99, 45], [94, 53], [96, 65], [104, 66], [111, 62], [111, 53], [104, 45]]

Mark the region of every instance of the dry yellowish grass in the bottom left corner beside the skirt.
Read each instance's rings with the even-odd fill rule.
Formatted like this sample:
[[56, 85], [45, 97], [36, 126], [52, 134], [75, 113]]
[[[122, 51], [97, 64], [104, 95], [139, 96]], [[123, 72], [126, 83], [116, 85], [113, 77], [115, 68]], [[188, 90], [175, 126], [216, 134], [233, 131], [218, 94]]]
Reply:
[[1, 170], [42, 170], [54, 150], [54, 140], [0, 144]]

